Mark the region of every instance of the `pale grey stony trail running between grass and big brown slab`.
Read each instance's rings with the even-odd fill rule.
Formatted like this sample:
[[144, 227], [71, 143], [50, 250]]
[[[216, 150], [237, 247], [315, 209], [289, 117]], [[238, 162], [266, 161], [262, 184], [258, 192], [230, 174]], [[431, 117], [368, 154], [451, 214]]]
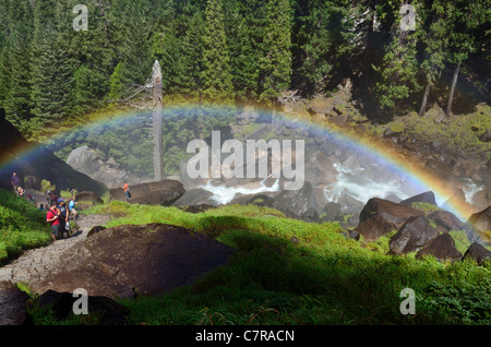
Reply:
[[85, 240], [87, 232], [94, 226], [104, 226], [110, 220], [107, 215], [81, 215], [76, 220], [77, 229], [68, 239], [58, 240], [43, 248], [26, 251], [12, 263], [0, 267], [0, 283], [12, 284], [37, 282], [63, 262], [63, 254], [72, 247]]

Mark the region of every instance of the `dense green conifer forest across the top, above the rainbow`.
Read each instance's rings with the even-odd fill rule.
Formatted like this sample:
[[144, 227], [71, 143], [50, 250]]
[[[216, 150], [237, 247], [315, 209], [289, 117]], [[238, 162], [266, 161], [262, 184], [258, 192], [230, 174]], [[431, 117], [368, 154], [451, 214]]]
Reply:
[[[87, 31], [74, 28], [76, 4], [88, 9]], [[158, 59], [166, 100], [274, 107], [285, 91], [328, 94], [349, 77], [372, 118], [422, 115], [435, 101], [465, 112], [489, 101], [490, 8], [489, 0], [0, 0], [0, 106], [28, 135], [124, 104]]]

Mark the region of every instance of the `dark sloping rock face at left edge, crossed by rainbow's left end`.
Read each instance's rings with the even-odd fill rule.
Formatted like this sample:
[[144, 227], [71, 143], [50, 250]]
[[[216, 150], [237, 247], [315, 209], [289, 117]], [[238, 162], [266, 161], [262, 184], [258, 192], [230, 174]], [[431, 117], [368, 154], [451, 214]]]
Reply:
[[29, 143], [7, 119], [0, 108], [0, 188], [11, 190], [12, 172], [17, 172], [24, 187], [24, 179], [32, 176], [46, 179], [59, 190], [79, 188], [93, 191], [99, 196], [107, 191], [103, 183], [73, 170], [51, 151], [37, 143]]

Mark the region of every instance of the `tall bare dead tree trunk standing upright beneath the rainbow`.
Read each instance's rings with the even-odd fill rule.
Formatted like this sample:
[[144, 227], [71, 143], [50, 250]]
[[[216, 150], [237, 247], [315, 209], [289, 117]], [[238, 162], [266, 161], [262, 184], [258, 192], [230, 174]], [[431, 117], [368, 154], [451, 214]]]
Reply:
[[154, 140], [154, 179], [161, 181], [164, 177], [163, 165], [163, 119], [161, 119], [161, 70], [158, 60], [152, 70], [154, 83], [154, 112], [153, 112], [153, 140]]

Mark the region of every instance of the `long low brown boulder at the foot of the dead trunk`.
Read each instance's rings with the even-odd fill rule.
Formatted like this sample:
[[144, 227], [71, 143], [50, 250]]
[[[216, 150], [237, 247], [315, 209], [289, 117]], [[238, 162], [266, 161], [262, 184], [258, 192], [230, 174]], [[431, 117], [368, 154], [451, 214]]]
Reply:
[[[163, 180], [130, 186], [130, 203], [170, 206], [184, 194], [185, 190], [179, 181]], [[111, 199], [127, 201], [122, 188], [111, 189], [109, 193]]]

